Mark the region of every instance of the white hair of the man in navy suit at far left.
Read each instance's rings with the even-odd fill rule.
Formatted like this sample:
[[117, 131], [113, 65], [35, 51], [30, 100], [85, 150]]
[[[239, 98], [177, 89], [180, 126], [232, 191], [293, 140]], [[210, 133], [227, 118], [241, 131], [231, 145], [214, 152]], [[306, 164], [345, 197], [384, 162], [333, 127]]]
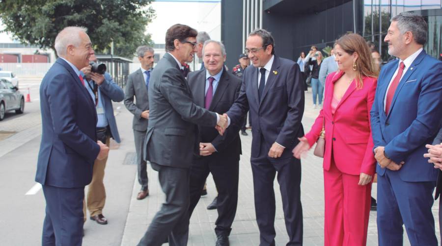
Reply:
[[66, 26], [55, 37], [54, 48], [57, 56], [64, 57], [67, 54], [67, 47], [73, 45], [79, 47], [82, 44], [80, 33], [87, 32], [87, 28], [83, 26]]

